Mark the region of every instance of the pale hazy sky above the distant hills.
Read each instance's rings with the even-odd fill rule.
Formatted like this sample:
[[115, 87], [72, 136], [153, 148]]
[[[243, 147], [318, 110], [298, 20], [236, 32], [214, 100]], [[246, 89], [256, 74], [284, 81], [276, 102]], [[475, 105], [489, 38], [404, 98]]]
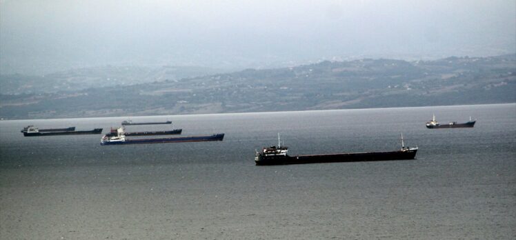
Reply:
[[516, 1], [0, 0], [0, 72], [516, 52]]

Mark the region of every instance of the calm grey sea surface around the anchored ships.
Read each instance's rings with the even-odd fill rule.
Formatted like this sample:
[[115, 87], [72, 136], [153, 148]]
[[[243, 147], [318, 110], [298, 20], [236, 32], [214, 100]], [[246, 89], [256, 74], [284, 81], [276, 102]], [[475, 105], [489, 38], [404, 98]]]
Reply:
[[[429, 130], [477, 119], [475, 128]], [[100, 146], [166, 121], [224, 141]], [[397, 150], [413, 161], [255, 166], [289, 154]], [[516, 104], [0, 121], [1, 239], [516, 239]]]

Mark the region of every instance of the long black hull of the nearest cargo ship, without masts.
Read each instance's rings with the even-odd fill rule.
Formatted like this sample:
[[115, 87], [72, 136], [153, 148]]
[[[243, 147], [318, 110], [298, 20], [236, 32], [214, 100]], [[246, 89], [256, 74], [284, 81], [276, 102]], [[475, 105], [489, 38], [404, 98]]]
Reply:
[[339, 154], [321, 155], [299, 155], [290, 157], [288, 155], [264, 156], [259, 154], [255, 163], [257, 166], [304, 164], [304, 163], [337, 163], [350, 161], [389, 161], [415, 159], [416, 150], [392, 151], [392, 152], [350, 152]]

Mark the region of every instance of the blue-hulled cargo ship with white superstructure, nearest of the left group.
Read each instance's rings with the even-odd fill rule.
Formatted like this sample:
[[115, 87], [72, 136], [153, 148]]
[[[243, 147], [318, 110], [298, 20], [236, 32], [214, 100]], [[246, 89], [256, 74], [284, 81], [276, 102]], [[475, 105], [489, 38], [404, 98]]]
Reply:
[[120, 144], [142, 144], [142, 143], [185, 143], [195, 141], [222, 141], [224, 133], [212, 134], [206, 136], [190, 136], [190, 137], [168, 137], [163, 139], [126, 139], [123, 128], [117, 129], [117, 136], [104, 135], [100, 141], [100, 145], [120, 145]]

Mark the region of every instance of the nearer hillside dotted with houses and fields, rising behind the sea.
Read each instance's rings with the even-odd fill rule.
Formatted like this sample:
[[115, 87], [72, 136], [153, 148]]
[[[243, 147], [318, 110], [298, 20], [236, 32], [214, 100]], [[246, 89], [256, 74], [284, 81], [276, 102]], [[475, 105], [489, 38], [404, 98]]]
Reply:
[[[516, 55], [362, 59], [132, 86], [3, 94], [0, 117], [101, 117], [516, 102]], [[117, 78], [113, 75], [112, 78]]]

